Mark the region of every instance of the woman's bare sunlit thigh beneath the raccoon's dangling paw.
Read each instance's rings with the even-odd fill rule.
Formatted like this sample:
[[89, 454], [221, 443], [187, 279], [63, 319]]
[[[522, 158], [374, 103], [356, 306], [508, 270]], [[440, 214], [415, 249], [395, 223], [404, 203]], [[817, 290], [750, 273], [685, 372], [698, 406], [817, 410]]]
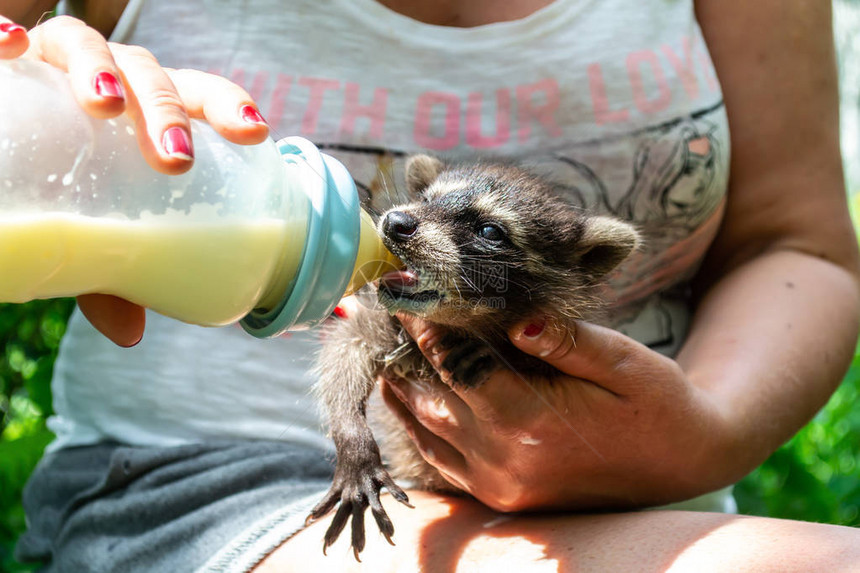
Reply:
[[327, 516], [255, 572], [860, 570], [860, 530], [849, 527], [685, 511], [512, 516], [465, 498], [416, 491], [409, 497], [415, 509], [384, 499], [395, 547], [374, 534], [368, 515], [361, 564], [348, 531], [323, 555]]

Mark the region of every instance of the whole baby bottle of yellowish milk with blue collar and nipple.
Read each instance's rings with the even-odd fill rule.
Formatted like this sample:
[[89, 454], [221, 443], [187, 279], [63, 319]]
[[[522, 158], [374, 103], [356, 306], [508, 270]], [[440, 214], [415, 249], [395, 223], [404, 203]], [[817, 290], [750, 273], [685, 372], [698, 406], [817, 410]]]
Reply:
[[91, 118], [61, 71], [0, 61], [0, 302], [113, 294], [266, 337], [400, 264], [309, 141], [235, 145], [199, 121], [192, 137], [194, 167], [157, 173], [125, 115]]

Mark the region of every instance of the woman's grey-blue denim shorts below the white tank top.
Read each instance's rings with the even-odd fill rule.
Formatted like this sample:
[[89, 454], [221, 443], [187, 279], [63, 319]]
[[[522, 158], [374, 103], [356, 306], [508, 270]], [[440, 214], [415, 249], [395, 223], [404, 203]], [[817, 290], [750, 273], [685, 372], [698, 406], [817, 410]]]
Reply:
[[304, 526], [332, 472], [332, 455], [287, 442], [59, 450], [24, 491], [16, 557], [51, 573], [249, 571]]

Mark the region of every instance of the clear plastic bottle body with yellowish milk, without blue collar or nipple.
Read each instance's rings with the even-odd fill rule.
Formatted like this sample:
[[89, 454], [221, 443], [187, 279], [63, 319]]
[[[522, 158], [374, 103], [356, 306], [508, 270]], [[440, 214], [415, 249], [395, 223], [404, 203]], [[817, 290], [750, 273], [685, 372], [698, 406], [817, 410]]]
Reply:
[[308, 174], [274, 143], [194, 122], [195, 166], [162, 175], [127, 117], [88, 117], [53, 68], [0, 64], [0, 300], [99, 292], [215, 326], [295, 273]]

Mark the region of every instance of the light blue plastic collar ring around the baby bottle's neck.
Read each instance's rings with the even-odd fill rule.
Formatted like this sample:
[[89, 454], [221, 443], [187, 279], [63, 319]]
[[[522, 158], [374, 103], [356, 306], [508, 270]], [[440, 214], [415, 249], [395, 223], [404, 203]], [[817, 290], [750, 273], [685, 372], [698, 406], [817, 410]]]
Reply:
[[305, 185], [307, 239], [293, 282], [273, 309], [251, 311], [241, 321], [257, 338], [306, 330], [325, 320], [340, 302], [358, 256], [360, 204], [346, 168], [304, 138], [287, 137], [277, 145], [285, 161], [305, 161], [320, 177]]

